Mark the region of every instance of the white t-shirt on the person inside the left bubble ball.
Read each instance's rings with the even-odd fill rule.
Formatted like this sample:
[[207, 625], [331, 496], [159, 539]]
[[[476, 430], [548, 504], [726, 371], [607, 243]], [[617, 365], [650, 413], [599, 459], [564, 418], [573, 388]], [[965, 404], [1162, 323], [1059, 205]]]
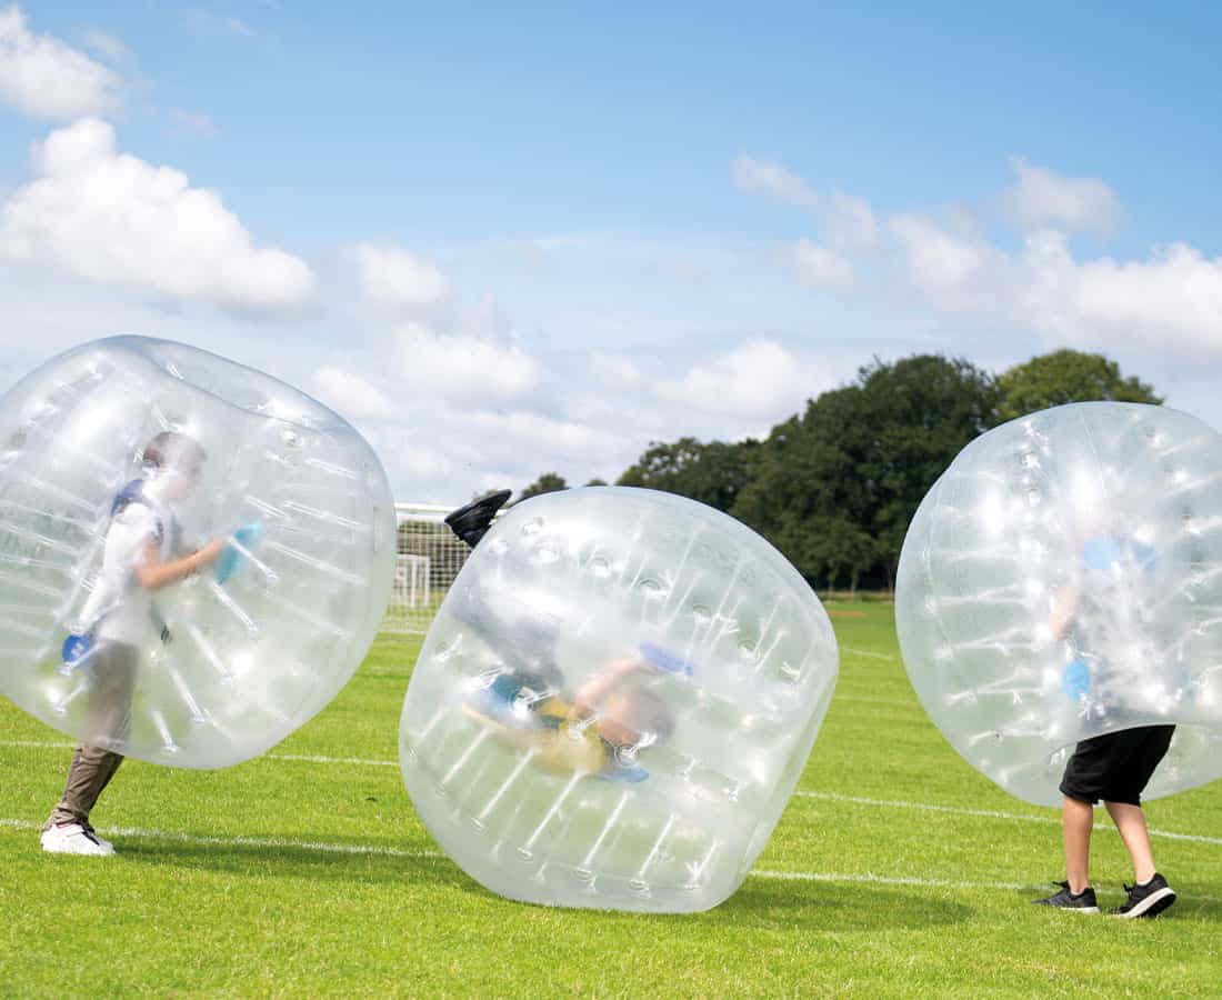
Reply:
[[101, 575], [82, 612], [82, 627], [97, 628], [99, 639], [142, 645], [160, 632], [155, 626], [153, 595], [141, 586], [136, 567], [150, 542], [160, 556], [174, 556], [177, 534], [174, 513], [148, 485], [111, 518], [106, 532]]

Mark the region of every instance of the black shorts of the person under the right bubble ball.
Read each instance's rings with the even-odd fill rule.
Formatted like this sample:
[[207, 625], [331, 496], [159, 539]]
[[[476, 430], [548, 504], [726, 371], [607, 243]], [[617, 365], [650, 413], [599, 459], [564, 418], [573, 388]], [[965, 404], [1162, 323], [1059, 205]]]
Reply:
[[1091, 806], [1099, 800], [1140, 806], [1174, 731], [1174, 726], [1141, 726], [1083, 740], [1066, 764], [1061, 793]]

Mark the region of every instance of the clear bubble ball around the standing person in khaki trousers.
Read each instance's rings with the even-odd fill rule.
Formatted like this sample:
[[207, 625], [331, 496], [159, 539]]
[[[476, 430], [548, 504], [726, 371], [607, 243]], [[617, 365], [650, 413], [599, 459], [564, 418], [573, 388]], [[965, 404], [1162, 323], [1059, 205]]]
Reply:
[[369, 445], [262, 372], [120, 336], [0, 400], [0, 691], [77, 740], [262, 753], [352, 676], [393, 566]]

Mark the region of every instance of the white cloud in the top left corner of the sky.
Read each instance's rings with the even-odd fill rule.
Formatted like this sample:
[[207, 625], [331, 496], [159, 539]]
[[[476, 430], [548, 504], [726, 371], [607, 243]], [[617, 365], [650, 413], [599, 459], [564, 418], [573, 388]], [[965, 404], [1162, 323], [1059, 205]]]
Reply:
[[35, 119], [114, 111], [122, 81], [48, 34], [33, 34], [21, 7], [0, 7], [0, 100]]

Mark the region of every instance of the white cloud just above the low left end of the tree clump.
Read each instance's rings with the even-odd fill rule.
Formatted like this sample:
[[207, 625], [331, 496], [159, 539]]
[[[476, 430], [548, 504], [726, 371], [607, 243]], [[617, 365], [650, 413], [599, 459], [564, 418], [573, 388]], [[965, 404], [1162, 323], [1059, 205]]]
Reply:
[[825, 378], [766, 337], [748, 340], [693, 366], [681, 379], [662, 379], [654, 386], [671, 402], [736, 417], [787, 416], [826, 388]]

